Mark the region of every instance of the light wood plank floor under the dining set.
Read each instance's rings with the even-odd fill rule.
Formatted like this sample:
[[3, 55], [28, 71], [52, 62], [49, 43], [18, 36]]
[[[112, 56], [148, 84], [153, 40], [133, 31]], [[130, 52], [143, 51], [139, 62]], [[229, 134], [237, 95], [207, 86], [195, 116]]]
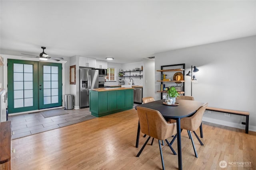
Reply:
[[[138, 116], [135, 109], [12, 140], [12, 170], [158, 170], [162, 169], [158, 142], [148, 144], [136, 157], [146, 138], [135, 147]], [[256, 169], [256, 133], [203, 122], [201, 146], [193, 136], [198, 158], [188, 134], [182, 132], [184, 170], [215, 170], [221, 160], [251, 162]], [[199, 134], [199, 131], [197, 131]], [[171, 140], [171, 139], [170, 139]], [[177, 141], [172, 145], [177, 152]], [[162, 147], [166, 170], [178, 168], [178, 156]]]

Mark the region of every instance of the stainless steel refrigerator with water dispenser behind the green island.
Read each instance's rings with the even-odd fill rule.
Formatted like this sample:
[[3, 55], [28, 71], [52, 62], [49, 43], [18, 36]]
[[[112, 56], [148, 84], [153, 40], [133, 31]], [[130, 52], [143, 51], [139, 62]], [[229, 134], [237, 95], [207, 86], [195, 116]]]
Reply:
[[79, 69], [79, 107], [89, 107], [89, 89], [99, 88], [99, 70]]

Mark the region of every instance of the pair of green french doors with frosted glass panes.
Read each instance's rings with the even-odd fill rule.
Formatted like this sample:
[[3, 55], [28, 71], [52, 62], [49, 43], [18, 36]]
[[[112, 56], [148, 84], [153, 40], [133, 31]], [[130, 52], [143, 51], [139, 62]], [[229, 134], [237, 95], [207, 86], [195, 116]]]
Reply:
[[62, 64], [7, 62], [8, 113], [62, 106]]

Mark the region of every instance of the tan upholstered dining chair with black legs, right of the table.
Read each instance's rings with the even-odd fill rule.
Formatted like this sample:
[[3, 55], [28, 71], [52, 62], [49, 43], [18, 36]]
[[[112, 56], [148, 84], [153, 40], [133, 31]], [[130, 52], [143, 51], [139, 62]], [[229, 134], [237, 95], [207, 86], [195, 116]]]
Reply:
[[[191, 131], [194, 132], [194, 134], [195, 134], [196, 138], [198, 139], [199, 143], [201, 145], [204, 145], [202, 143], [202, 141], [199, 139], [199, 137], [198, 137], [198, 135], [196, 134], [195, 131], [200, 127], [200, 125], [202, 123], [202, 118], [203, 118], [203, 115], [204, 115], [204, 111], [205, 111], [207, 106], [208, 106], [208, 103], [205, 103], [203, 106], [199, 107], [197, 109], [196, 113], [194, 113], [194, 115], [192, 115], [191, 117], [184, 117], [184, 118], [180, 119], [180, 129], [186, 129], [188, 131], [188, 137], [191, 139], [196, 158], [198, 158], [198, 154], [196, 152], [196, 147], [194, 145], [194, 141], [193, 141], [193, 138], [192, 138], [192, 135], [191, 135]], [[174, 121], [172, 120], [171, 123], [172, 122], [174, 122]], [[176, 137], [177, 137], [177, 134], [174, 136], [174, 138], [170, 142], [171, 145], [174, 142]]]

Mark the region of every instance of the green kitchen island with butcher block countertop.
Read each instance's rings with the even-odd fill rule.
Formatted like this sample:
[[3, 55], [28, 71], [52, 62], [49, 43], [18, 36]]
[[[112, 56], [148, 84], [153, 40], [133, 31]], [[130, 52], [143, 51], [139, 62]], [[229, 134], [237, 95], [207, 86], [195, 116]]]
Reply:
[[134, 88], [96, 88], [90, 90], [90, 112], [96, 117], [132, 109]]

